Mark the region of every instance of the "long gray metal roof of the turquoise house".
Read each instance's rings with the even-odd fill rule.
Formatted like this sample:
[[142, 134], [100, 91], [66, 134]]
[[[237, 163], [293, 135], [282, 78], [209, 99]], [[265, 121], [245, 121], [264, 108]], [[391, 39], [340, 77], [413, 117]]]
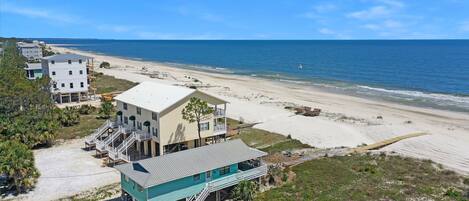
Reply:
[[267, 155], [241, 140], [207, 145], [115, 168], [144, 188]]

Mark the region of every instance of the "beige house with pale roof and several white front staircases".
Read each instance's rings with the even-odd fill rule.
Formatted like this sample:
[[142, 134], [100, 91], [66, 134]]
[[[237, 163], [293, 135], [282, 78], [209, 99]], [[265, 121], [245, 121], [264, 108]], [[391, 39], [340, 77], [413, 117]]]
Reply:
[[192, 97], [215, 111], [201, 121], [202, 144], [224, 140], [226, 101], [195, 89], [143, 82], [115, 97], [116, 120], [88, 137], [86, 145], [127, 162], [194, 148], [199, 144], [197, 123], [182, 118]]

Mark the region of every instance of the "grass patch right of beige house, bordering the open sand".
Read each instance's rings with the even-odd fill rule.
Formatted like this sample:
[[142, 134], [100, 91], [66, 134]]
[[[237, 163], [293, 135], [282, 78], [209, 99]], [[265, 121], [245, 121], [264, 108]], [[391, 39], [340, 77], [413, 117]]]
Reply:
[[[229, 128], [240, 126], [237, 120], [227, 120]], [[288, 137], [278, 133], [249, 127], [240, 129], [239, 135], [235, 135], [233, 139], [241, 139], [247, 145], [268, 153], [310, 147], [307, 144], [301, 143], [299, 140], [289, 139]]]

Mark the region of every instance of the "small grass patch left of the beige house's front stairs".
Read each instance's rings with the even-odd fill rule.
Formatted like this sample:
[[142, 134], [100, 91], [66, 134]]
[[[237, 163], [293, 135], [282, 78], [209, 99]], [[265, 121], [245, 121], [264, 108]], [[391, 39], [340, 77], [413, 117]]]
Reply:
[[93, 133], [93, 131], [104, 123], [104, 119], [98, 119], [96, 113], [80, 115], [80, 123], [70, 127], [62, 127], [57, 131], [57, 139], [81, 138]]

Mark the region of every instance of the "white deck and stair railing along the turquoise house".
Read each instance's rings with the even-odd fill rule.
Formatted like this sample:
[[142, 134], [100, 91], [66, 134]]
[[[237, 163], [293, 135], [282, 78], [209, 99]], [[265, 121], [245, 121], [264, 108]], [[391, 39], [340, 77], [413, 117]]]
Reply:
[[[200, 193], [187, 198], [186, 201], [203, 201], [208, 197], [208, 195], [211, 192], [218, 191], [226, 187], [236, 185], [240, 181], [251, 180], [251, 179], [262, 177], [267, 174], [267, 170], [268, 170], [267, 165], [261, 165], [259, 167], [256, 167], [250, 170], [240, 171], [234, 175], [226, 176], [226, 177], [208, 182], [205, 185], [204, 189], [200, 191]], [[235, 177], [236, 179], [226, 182], [227, 180], [233, 177]]]

